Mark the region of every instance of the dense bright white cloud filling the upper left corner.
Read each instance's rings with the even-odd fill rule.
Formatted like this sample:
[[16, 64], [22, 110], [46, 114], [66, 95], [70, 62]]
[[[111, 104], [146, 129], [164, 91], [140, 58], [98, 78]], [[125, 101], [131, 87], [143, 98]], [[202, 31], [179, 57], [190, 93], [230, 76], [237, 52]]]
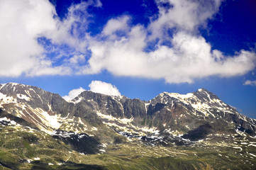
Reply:
[[45, 60], [36, 38], [54, 28], [54, 14], [49, 1], [0, 1], [0, 76], [17, 77]]

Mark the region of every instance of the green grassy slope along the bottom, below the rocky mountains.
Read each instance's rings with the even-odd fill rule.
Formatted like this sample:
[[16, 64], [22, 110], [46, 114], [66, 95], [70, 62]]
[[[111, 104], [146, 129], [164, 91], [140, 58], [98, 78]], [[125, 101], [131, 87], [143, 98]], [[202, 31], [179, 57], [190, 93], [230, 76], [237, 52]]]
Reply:
[[[0, 169], [255, 169], [256, 147], [161, 147], [134, 141], [80, 154], [30, 128], [0, 127]], [[40, 158], [40, 160], [38, 160]], [[29, 160], [30, 163], [28, 163]]]

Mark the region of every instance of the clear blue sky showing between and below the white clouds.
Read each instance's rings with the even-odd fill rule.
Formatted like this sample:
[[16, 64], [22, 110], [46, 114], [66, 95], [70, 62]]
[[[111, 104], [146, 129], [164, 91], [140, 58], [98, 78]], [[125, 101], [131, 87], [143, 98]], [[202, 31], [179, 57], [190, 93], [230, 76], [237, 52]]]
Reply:
[[[76, 4], [80, 4], [83, 1], [77, 0], [50, 0], [52, 6], [54, 6], [57, 18], [60, 22], [64, 22], [68, 18], [68, 8]], [[89, 3], [91, 1], [84, 1]], [[95, 1], [94, 1], [95, 2]], [[92, 2], [91, 2], [92, 3]], [[112, 18], [121, 16], [129, 16], [128, 26], [141, 25], [145, 30], [149, 30], [150, 23], [156, 21], [159, 14], [157, 8], [162, 6], [166, 10], [173, 8], [172, 4], [160, 3], [156, 4], [155, 1], [145, 0], [101, 0], [102, 6], [89, 5], [84, 11], [86, 13], [77, 14], [83, 16], [87, 15], [87, 25], [77, 22], [76, 25], [72, 25], [73, 30], [77, 29], [78, 39], [82, 42], [85, 34], [88, 33], [92, 38], [99, 38], [99, 34], [106, 26], [106, 23]], [[223, 55], [227, 57], [233, 57], [240, 50], [247, 50], [255, 52], [256, 43], [256, 1], [254, 0], [227, 0], [223, 1], [219, 10], [204, 23], [199, 24], [196, 30], [189, 30], [187, 33], [198, 37], [203, 37], [209, 45], [211, 50], [219, 50]], [[76, 11], [79, 13], [79, 11]], [[18, 24], [18, 23], [17, 23]], [[175, 33], [179, 32], [182, 28], [174, 26], [168, 31], [169, 37], [172, 38]], [[161, 30], [160, 30], [161, 31]], [[187, 30], [186, 30], [187, 31]], [[73, 33], [73, 32], [72, 32]], [[150, 35], [150, 31], [147, 32]], [[118, 36], [124, 34], [124, 37], [128, 37], [126, 33], [120, 32]], [[69, 47], [68, 43], [62, 42], [62, 44], [54, 44], [53, 38], [50, 36], [38, 36], [42, 39], [42, 42], [38, 43], [41, 47], [46, 49], [44, 52], [50, 60], [56, 55], [63, 54], [71, 57], [75, 54], [82, 54], [86, 56], [86, 64], [91, 57], [90, 50], [77, 51], [74, 47]], [[51, 39], [52, 38], [52, 39]], [[102, 37], [101, 37], [102, 38]], [[41, 40], [41, 39], [38, 39]], [[101, 39], [104, 41], [104, 38]], [[155, 40], [148, 41], [148, 49], [154, 50], [156, 43], [161, 41], [161, 37]], [[151, 44], [150, 44], [151, 43]], [[160, 45], [166, 45], [172, 47], [172, 43], [167, 40], [163, 40]], [[49, 49], [47, 49], [49, 46]], [[49, 52], [52, 47], [55, 50]], [[0, 52], [1, 53], [1, 52]], [[70, 55], [70, 56], [69, 56]], [[4, 55], [1, 55], [4, 56]], [[59, 58], [55, 59], [59, 60]], [[52, 66], [60, 66], [65, 63], [66, 60], [52, 62]], [[255, 62], [255, 60], [253, 60]], [[253, 62], [252, 61], [252, 62]], [[79, 63], [78, 63], [79, 64]], [[79, 65], [82, 65], [80, 63]], [[105, 67], [104, 67], [105, 68]], [[196, 91], [199, 88], [205, 88], [216, 94], [221, 100], [238, 108], [240, 113], [247, 115], [250, 118], [256, 118], [256, 69], [253, 67], [250, 71], [243, 72], [242, 74], [223, 77], [221, 74], [211, 74], [204, 77], [193, 77], [192, 82], [169, 82], [165, 78], [145, 78], [145, 76], [131, 76], [131, 75], [118, 75], [118, 73], [110, 72], [110, 69], [101, 69], [101, 72], [94, 74], [67, 74], [67, 75], [32, 75], [28, 76], [26, 72], [22, 72], [16, 76], [0, 76], [0, 83], [17, 82], [21, 84], [29, 84], [33, 86], [39, 86], [42, 89], [51, 91], [53, 93], [65, 96], [72, 89], [78, 89], [80, 86], [84, 89], [89, 89], [88, 85], [91, 81], [99, 80], [110, 84], [113, 84], [121, 92], [121, 94], [128, 96], [129, 98], [140, 98], [142, 100], [150, 100], [157, 96], [157, 94], [163, 91], [176, 92], [179, 94], [187, 94], [189, 92]], [[235, 71], [235, 67], [233, 68]], [[0, 71], [1, 72], [1, 71]], [[244, 85], [245, 81], [255, 81], [255, 84]]]

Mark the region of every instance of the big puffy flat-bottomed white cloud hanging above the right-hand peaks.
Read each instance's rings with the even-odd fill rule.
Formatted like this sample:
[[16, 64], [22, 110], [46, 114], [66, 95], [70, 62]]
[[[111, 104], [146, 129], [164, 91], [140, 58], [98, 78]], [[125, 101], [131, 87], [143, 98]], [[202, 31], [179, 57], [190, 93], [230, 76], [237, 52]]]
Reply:
[[256, 55], [241, 50], [235, 56], [224, 56], [201, 36], [179, 32], [172, 38], [173, 47], [159, 45], [144, 52], [145, 30], [131, 29], [128, 38], [91, 44], [89, 67], [82, 74], [96, 74], [106, 69], [118, 76], [165, 79], [168, 83], [191, 83], [209, 76], [233, 77], [255, 68]]

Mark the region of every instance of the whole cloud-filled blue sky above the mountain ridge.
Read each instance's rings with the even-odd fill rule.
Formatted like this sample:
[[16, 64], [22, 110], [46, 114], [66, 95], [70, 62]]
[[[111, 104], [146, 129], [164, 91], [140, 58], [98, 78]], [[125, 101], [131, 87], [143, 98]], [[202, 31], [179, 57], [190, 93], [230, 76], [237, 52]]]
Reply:
[[204, 87], [256, 118], [255, 8], [253, 0], [3, 0], [0, 83], [142, 100]]

